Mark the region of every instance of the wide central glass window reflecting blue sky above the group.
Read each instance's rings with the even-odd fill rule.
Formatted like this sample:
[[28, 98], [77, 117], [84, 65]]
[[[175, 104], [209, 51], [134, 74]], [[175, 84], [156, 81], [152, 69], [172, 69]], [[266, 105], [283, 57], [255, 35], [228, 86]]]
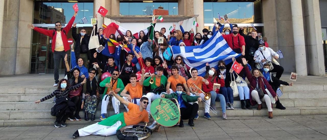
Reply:
[[163, 7], [169, 15], [178, 15], [178, 2], [130, 2], [120, 1], [120, 15], [152, 15], [154, 9]]

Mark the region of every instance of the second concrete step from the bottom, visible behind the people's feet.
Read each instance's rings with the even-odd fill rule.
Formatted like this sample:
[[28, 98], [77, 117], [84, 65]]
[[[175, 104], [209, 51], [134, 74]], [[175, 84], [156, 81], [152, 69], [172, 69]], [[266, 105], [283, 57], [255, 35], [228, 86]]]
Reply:
[[[122, 109], [120, 112], [126, 112]], [[216, 111], [218, 115], [215, 115], [210, 111], [211, 116], [221, 116], [221, 109], [218, 108]], [[262, 110], [253, 109], [241, 109], [235, 108], [234, 110], [226, 110], [227, 116], [266, 116], [268, 114], [267, 108]], [[113, 115], [113, 109], [109, 111], [109, 115]], [[316, 115], [316, 114], [327, 114], [327, 107], [288, 107], [286, 110], [280, 110], [273, 108], [273, 114], [276, 116], [280, 115]], [[80, 117], [84, 118], [84, 112], [79, 113]], [[101, 115], [100, 111], [97, 111], [95, 114], [96, 119], [99, 119]], [[204, 109], [199, 109], [199, 116], [204, 116]], [[89, 118], [91, 115], [89, 114]], [[50, 110], [1, 110], [0, 111], [1, 119], [55, 119], [54, 116], [50, 115]]]

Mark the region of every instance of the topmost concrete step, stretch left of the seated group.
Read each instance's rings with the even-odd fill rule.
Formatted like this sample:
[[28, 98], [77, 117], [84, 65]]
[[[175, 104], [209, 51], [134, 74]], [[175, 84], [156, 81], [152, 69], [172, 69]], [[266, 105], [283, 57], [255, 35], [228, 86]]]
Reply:
[[57, 87], [42, 87], [42, 88], [1, 88], [0, 94], [39, 94], [52, 93]]

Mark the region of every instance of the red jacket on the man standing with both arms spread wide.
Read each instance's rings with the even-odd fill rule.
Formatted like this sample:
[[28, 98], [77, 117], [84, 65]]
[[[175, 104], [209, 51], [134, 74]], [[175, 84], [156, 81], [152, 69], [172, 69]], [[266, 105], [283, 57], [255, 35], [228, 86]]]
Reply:
[[[73, 16], [69, 20], [68, 24], [64, 28], [61, 29], [61, 39], [62, 39], [62, 43], [63, 43], [63, 47], [65, 49], [65, 52], [70, 49], [69, 44], [68, 44], [68, 40], [67, 40], [67, 34], [68, 34], [69, 30], [72, 28], [74, 20], [75, 20], [75, 17]], [[46, 36], [49, 36], [49, 37], [52, 38], [51, 49], [52, 49], [52, 52], [55, 52], [56, 36], [57, 36], [56, 30], [54, 30], [54, 29], [47, 30], [47, 29], [38, 28], [38, 27], [34, 27], [34, 30], [41, 33], [41, 34], [43, 34], [43, 35], [46, 35]], [[63, 32], [63, 31], [65, 31], [65, 32]]]

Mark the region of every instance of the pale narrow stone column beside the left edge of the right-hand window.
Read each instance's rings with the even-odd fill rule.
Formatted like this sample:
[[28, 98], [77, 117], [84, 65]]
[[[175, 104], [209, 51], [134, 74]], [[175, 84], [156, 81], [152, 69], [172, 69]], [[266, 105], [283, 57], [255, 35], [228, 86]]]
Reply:
[[203, 0], [193, 0], [193, 10], [194, 15], [199, 15], [197, 17], [197, 22], [199, 24], [197, 27], [197, 32], [202, 34], [202, 29], [204, 28]]

